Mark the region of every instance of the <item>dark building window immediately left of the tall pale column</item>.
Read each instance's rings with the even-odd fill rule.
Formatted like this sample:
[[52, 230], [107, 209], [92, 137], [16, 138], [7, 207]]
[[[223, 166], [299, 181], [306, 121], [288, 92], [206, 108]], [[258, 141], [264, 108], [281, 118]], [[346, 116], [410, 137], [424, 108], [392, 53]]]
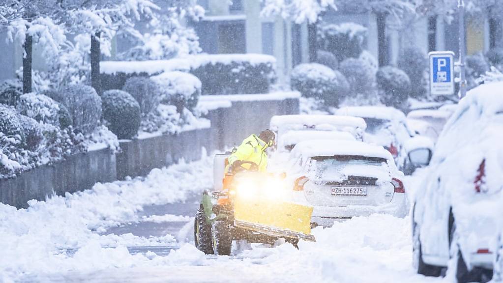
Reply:
[[218, 26], [218, 53], [246, 53], [244, 24]]

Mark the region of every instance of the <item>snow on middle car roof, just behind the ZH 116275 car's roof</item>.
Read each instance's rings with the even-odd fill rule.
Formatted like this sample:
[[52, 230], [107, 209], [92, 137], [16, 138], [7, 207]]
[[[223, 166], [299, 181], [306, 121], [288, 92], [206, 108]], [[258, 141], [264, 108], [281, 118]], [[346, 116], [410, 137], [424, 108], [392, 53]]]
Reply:
[[341, 131], [290, 131], [281, 138], [283, 145], [295, 145], [308, 140], [356, 140], [348, 132]]

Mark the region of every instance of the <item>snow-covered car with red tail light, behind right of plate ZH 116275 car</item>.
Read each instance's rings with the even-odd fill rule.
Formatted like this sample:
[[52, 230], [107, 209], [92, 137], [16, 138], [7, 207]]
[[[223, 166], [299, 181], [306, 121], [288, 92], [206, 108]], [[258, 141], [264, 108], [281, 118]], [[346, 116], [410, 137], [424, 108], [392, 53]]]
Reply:
[[404, 144], [414, 135], [407, 127], [403, 112], [392, 107], [362, 106], [344, 107], [336, 114], [363, 118], [367, 124], [365, 141], [386, 148], [398, 168], [403, 168], [407, 155]]

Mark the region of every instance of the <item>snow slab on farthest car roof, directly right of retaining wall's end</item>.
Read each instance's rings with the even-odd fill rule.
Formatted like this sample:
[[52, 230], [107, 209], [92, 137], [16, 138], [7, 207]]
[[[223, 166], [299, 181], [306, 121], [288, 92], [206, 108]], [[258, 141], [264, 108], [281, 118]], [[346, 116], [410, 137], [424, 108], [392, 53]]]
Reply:
[[345, 127], [365, 131], [365, 120], [358, 117], [336, 115], [281, 115], [273, 116], [270, 123], [275, 132], [287, 130], [341, 130]]

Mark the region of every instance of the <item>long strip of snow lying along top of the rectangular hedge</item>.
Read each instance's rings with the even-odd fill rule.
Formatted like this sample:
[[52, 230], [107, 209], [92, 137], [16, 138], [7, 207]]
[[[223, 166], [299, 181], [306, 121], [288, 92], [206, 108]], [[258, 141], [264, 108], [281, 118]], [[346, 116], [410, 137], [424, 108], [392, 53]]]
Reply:
[[147, 60], [147, 61], [102, 61], [100, 72], [104, 74], [115, 73], [147, 73], [149, 75], [165, 71], [189, 71], [205, 64], [231, 62], [249, 62], [251, 65], [262, 63], [276, 64], [276, 58], [265, 54], [198, 54], [184, 58], [170, 60]]

